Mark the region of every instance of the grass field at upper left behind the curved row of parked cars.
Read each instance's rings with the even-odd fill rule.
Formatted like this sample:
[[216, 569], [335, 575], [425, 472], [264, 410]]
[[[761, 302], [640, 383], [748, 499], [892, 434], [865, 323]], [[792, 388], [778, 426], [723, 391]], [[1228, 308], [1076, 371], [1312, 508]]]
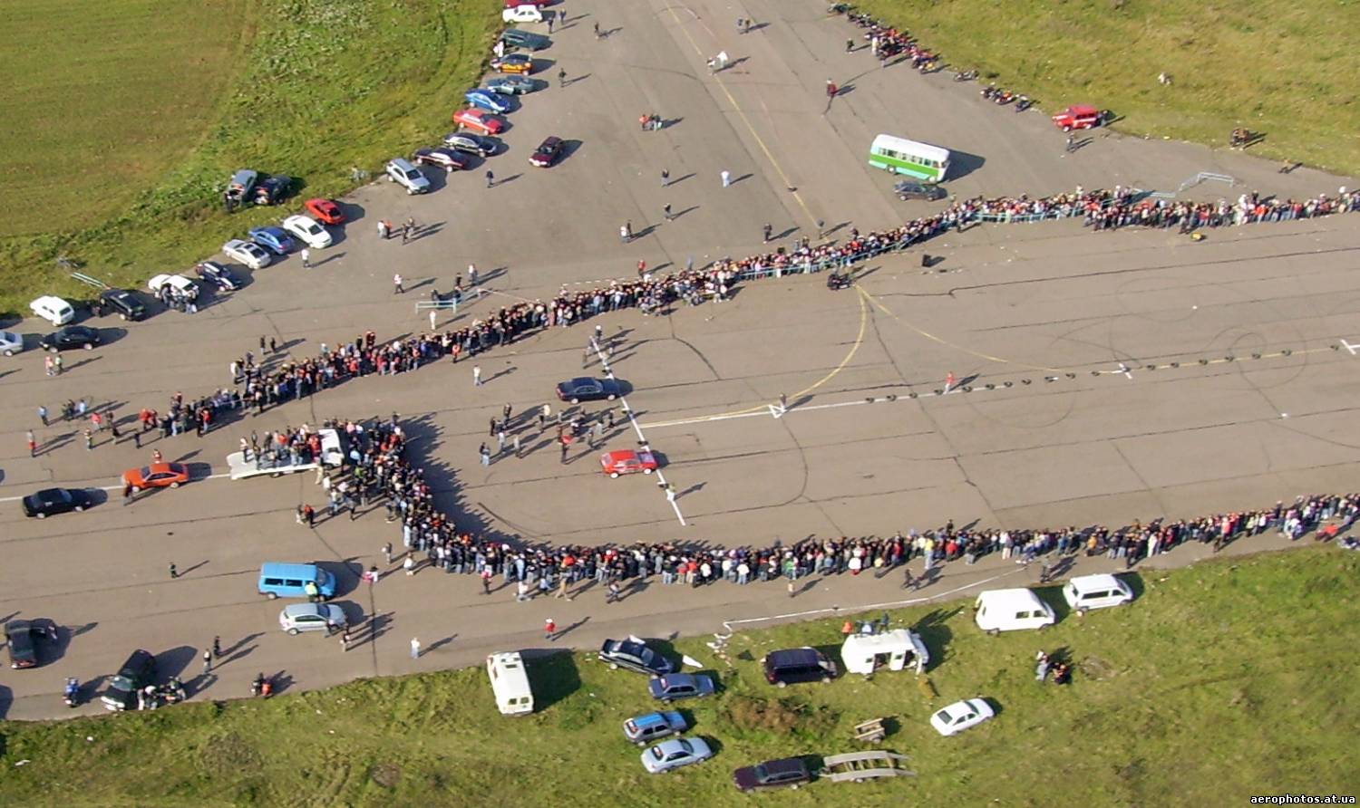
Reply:
[[[280, 209], [227, 217], [237, 168], [354, 187], [428, 145], [480, 76], [498, 0], [24, 0], [0, 56], [0, 312], [188, 268]], [[18, 31], [18, 33], [16, 33]], [[14, 137], [11, 137], [11, 134]], [[11, 143], [11, 140], [14, 143]]]

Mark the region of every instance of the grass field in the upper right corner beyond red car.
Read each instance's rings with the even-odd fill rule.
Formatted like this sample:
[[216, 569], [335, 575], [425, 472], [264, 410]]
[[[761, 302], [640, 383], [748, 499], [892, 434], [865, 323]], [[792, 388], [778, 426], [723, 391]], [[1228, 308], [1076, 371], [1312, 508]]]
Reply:
[[[1046, 113], [1089, 103], [1117, 128], [1360, 175], [1360, 4], [1345, 0], [857, 0], [951, 71], [979, 69]], [[1157, 75], [1172, 77], [1170, 87]], [[1336, 190], [1336, 189], [1319, 189]]]

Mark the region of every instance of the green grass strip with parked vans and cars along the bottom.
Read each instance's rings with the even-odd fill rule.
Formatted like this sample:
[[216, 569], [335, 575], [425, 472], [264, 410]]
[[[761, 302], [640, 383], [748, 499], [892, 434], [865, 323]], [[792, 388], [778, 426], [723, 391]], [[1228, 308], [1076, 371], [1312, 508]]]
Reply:
[[[522, 718], [499, 716], [484, 672], [466, 669], [0, 724], [0, 804], [1202, 807], [1355, 794], [1357, 574], [1360, 554], [1330, 547], [1209, 562], [1134, 579], [1130, 607], [1059, 608], [1047, 633], [996, 638], [963, 602], [895, 612], [930, 646], [936, 698], [913, 674], [783, 691], [763, 682], [770, 649], [835, 653], [840, 621], [740, 634], [734, 667], [717, 671], [721, 693], [684, 705], [717, 758], [668, 775], [645, 774], [619, 729], [653, 708], [645, 679], [556, 655], [530, 664], [539, 710]], [[675, 648], [715, 661], [702, 638]], [[1039, 648], [1070, 656], [1073, 684], [1034, 680]], [[953, 739], [926, 725], [933, 708], [978, 695], [1000, 708], [994, 721]], [[884, 748], [910, 755], [917, 778], [764, 797], [732, 788], [740, 765], [857, 750], [849, 728], [879, 716], [892, 717]]]

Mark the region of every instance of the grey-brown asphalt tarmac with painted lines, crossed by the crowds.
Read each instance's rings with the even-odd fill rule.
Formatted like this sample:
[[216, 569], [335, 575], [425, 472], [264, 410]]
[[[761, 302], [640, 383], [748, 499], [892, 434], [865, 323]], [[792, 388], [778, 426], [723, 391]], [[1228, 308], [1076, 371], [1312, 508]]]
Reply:
[[[792, 598], [781, 584], [675, 587], [661, 598], [647, 591], [660, 587], [653, 583], [609, 606], [598, 588], [570, 603], [515, 603], [513, 585], [484, 596], [471, 576], [434, 570], [397, 572], [370, 588], [356, 572], [386, 566], [384, 543], [400, 547], [382, 508], [356, 521], [299, 527], [295, 508], [324, 502], [311, 474], [222, 477], [226, 455], [252, 429], [398, 413], [441, 505], [460, 524], [592, 545], [770, 545], [926, 530], [948, 519], [1114, 526], [1360, 483], [1353, 217], [1210, 231], [1200, 243], [1174, 231], [1092, 234], [1077, 221], [976, 225], [872, 261], [846, 291], [789, 276], [670, 316], [597, 318], [619, 339], [612, 365], [634, 388], [628, 403], [664, 458], [675, 509], [651, 478], [600, 474], [594, 452], [577, 449], [559, 463], [552, 435], [540, 436], [528, 420], [526, 456], [477, 463], [487, 418], [505, 403], [517, 413], [545, 401], [556, 407], [558, 380], [598, 372], [597, 360], [582, 368], [589, 333], [579, 327], [483, 354], [488, 383], [480, 388], [471, 363], [441, 363], [143, 449], [126, 436], [107, 443], [105, 433], [86, 451], [73, 424], [38, 425], [38, 405], [57, 411], [68, 398], [88, 397], [131, 422], [143, 406], [165, 410], [175, 391], [227, 386], [228, 364], [246, 350], [258, 354], [260, 335], [279, 341], [280, 352], [267, 359], [282, 361], [364, 330], [379, 339], [419, 333], [428, 320], [416, 300], [447, 292], [458, 274], [466, 280], [469, 263], [484, 295], [457, 315], [441, 312], [441, 327], [563, 285], [627, 276], [639, 259], [665, 272], [688, 258], [702, 266], [755, 254], [766, 223], [777, 243], [789, 243], [815, 236], [817, 220], [827, 238], [842, 239], [850, 227], [923, 215], [930, 204], [899, 202], [894, 178], [865, 166], [879, 132], [955, 149], [957, 175], [947, 186], [959, 197], [1117, 183], [1172, 193], [1198, 172], [1239, 183], [1201, 183], [1183, 191], [1191, 198], [1250, 190], [1300, 197], [1355, 185], [1306, 168], [1278, 174], [1240, 152], [1100, 130], [1065, 153], [1065, 136], [1043, 113], [996, 107], [949, 72], [879, 69], [868, 49], [846, 54], [845, 39], [858, 29], [828, 18], [824, 3], [749, 5], [758, 27], [744, 35], [736, 14], [718, 4], [563, 8], [566, 29], [539, 54], [536, 75], [551, 86], [509, 115], [509, 149], [486, 163], [494, 187], [481, 166], [428, 172], [437, 187], [426, 197], [375, 182], [344, 200], [352, 221], [332, 228], [335, 246], [313, 250], [310, 270], [290, 257], [246, 270], [243, 289], [194, 315], [167, 311], [117, 327], [105, 318], [97, 325], [110, 344], [68, 353], [60, 378], [44, 375], [35, 350], [0, 363], [0, 617], [65, 626], [58, 659], [0, 672], [0, 717], [71, 714], [60, 703], [65, 676], [86, 682], [88, 695], [139, 646], [158, 655], [162, 675], [182, 675], [194, 698], [231, 698], [248, 694], [256, 672], [284, 688], [311, 688], [476, 664], [492, 650], [543, 646], [547, 617], [568, 629], [555, 645], [590, 648], [627, 633], [717, 631], [724, 621], [962, 598], [993, 581], [1036, 579], [986, 559], [949, 565], [919, 593], [895, 576], [868, 574], [800, 583]], [[598, 41], [596, 20], [609, 31]], [[718, 50], [732, 67], [710, 75], [704, 62]], [[568, 79], [560, 88], [559, 68]], [[828, 77], [842, 87], [830, 105]], [[668, 125], [641, 130], [646, 113]], [[567, 139], [568, 153], [549, 170], [533, 168], [528, 153], [547, 134]], [[724, 170], [736, 179], [726, 189]], [[680, 213], [675, 221], [662, 220], [665, 204]], [[409, 243], [377, 238], [378, 219], [408, 216], [418, 223]], [[627, 244], [617, 238], [626, 221], [639, 236]], [[942, 261], [923, 270], [921, 251]], [[393, 293], [394, 272], [405, 295]], [[35, 342], [44, 326], [27, 320], [16, 330]], [[948, 378], [955, 386], [942, 394]], [[789, 410], [777, 418], [771, 405], [781, 394]], [[23, 444], [29, 428], [44, 444], [38, 458]], [[635, 443], [620, 424], [605, 448]], [[42, 486], [117, 486], [118, 474], [144, 464], [154, 448], [189, 463], [194, 482], [131, 507], [114, 488], [86, 513], [44, 521], [19, 513], [18, 497]], [[1284, 542], [1269, 536], [1229, 551], [1274, 546]], [[1156, 564], [1195, 553], [1176, 550]], [[340, 573], [339, 602], [366, 626], [360, 642], [341, 652], [339, 640], [280, 631], [282, 603], [254, 592], [264, 561], [321, 561]], [[1076, 572], [1106, 564], [1081, 561]], [[197, 657], [214, 636], [226, 659], [200, 675]], [[409, 659], [412, 637], [426, 648], [420, 660]]]

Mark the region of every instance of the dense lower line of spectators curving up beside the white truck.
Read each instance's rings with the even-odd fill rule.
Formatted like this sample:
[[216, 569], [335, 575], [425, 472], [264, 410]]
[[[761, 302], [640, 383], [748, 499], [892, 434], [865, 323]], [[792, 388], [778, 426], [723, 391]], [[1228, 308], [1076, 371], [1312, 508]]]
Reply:
[[[1047, 566], [1064, 557], [1098, 555], [1122, 558], [1127, 568], [1145, 558], [1170, 553], [1186, 543], [1224, 546], [1274, 530], [1297, 540], [1310, 531], [1315, 538], [1331, 539], [1360, 519], [1360, 494], [1300, 496], [1292, 504], [1276, 502], [1273, 508], [1213, 513], [1189, 520], [1155, 519], [1148, 523], [1110, 528], [1002, 530], [955, 527], [915, 530], [894, 536], [808, 538], [793, 545], [767, 547], [695, 546], [681, 542], [638, 542], [634, 545], [564, 545], [547, 546], [515, 539], [486, 538], [460, 528], [457, 519], [434, 505], [434, 492], [423, 471], [405, 456], [405, 436], [397, 418], [362, 425], [337, 424], [350, 445], [348, 479], [322, 481], [332, 493], [330, 512], [350, 508], [351, 519], [359, 507], [382, 501], [388, 521], [401, 523], [401, 545], [407, 550], [404, 566], [441, 569], [453, 574], [475, 574], [486, 592], [502, 579], [517, 587], [520, 598], [534, 593], [570, 596], [582, 581], [608, 584], [650, 579], [661, 584], [700, 587], [725, 580], [733, 584], [786, 579], [790, 583], [811, 574], [858, 576], [865, 572], [888, 574], [917, 558], [922, 559], [922, 580], [936, 568], [998, 554], [1020, 564], [1040, 561]], [[1333, 524], [1323, 524], [1333, 521]], [[389, 559], [392, 551], [388, 551]], [[375, 576], [374, 568], [367, 574]], [[907, 573], [907, 580], [913, 580]]]

